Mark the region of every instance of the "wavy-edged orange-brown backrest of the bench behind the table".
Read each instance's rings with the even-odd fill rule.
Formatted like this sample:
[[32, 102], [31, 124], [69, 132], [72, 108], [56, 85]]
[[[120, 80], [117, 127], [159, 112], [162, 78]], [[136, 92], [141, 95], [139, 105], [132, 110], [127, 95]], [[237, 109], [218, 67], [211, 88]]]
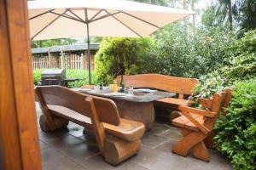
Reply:
[[[141, 74], [124, 76], [125, 86], [134, 88], [154, 88], [180, 94], [179, 98], [183, 99], [183, 94], [190, 95], [199, 80], [196, 78], [168, 77], [160, 74]], [[120, 76], [117, 78], [120, 82]]]

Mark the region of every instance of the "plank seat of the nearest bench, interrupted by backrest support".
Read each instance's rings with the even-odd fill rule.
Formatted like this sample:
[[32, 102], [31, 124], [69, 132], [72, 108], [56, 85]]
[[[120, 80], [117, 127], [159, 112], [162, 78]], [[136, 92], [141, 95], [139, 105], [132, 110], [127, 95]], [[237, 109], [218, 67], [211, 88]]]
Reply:
[[[79, 114], [76, 111], [72, 111], [67, 107], [61, 105], [47, 105], [49, 112], [54, 116], [63, 117], [71, 122], [75, 122], [83, 127], [93, 128], [90, 121], [90, 117]], [[108, 134], [111, 134], [119, 139], [124, 139], [126, 141], [136, 141], [143, 137], [145, 127], [141, 122], [134, 122], [127, 119], [120, 118], [119, 126], [113, 126], [108, 123], [103, 123]]]

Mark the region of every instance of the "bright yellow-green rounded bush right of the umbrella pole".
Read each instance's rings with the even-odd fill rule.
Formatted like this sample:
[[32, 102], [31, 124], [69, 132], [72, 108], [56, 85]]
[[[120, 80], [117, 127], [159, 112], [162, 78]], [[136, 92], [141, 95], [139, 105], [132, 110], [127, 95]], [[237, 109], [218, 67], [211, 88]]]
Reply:
[[152, 44], [148, 38], [105, 38], [96, 53], [98, 82], [111, 83], [118, 74], [143, 73]]

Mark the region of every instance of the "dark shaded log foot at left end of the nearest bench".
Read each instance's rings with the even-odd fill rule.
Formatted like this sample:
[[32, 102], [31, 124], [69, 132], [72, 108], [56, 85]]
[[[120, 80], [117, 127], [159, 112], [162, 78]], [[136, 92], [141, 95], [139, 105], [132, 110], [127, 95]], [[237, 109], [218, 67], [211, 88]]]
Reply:
[[46, 117], [44, 115], [40, 116], [39, 124], [40, 124], [40, 128], [41, 128], [42, 131], [44, 131], [44, 132], [51, 132], [51, 131], [54, 131], [55, 129], [58, 129], [58, 128], [67, 127], [67, 124], [68, 124], [67, 120], [61, 119], [61, 118], [56, 117], [56, 116], [52, 116], [52, 118], [53, 118], [53, 122], [55, 124], [55, 128], [54, 129], [51, 129], [49, 127], [47, 119], [46, 119]]

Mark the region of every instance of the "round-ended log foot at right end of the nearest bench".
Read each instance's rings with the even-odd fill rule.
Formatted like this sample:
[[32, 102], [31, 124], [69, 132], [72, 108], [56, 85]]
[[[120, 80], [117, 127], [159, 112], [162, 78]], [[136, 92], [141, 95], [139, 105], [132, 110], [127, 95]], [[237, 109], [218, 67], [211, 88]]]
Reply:
[[140, 139], [134, 142], [126, 142], [125, 140], [108, 136], [105, 139], [104, 157], [109, 164], [117, 165], [121, 161], [136, 155], [140, 148]]

